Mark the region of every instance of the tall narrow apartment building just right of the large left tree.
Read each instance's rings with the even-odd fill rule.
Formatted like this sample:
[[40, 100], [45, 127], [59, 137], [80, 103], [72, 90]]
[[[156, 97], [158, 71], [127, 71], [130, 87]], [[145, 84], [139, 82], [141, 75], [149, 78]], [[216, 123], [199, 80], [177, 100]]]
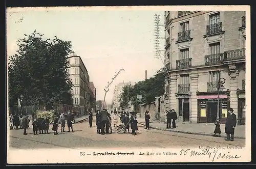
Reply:
[[85, 114], [89, 108], [89, 75], [81, 57], [72, 52], [69, 57], [68, 73], [72, 80], [73, 104], [79, 107], [79, 113]]

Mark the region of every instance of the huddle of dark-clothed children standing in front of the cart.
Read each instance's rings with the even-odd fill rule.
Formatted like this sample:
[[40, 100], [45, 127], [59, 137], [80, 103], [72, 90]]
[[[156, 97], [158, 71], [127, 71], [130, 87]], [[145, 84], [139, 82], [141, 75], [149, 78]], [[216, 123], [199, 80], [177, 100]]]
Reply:
[[46, 116], [44, 119], [41, 118], [40, 115], [38, 116], [38, 118], [34, 118], [34, 121], [32, 123], [34, 135], [38, 134], [37, 131], [39, 131], [39, 134], [49, 134], [49, 124], [50, 120], [47, 119]]

